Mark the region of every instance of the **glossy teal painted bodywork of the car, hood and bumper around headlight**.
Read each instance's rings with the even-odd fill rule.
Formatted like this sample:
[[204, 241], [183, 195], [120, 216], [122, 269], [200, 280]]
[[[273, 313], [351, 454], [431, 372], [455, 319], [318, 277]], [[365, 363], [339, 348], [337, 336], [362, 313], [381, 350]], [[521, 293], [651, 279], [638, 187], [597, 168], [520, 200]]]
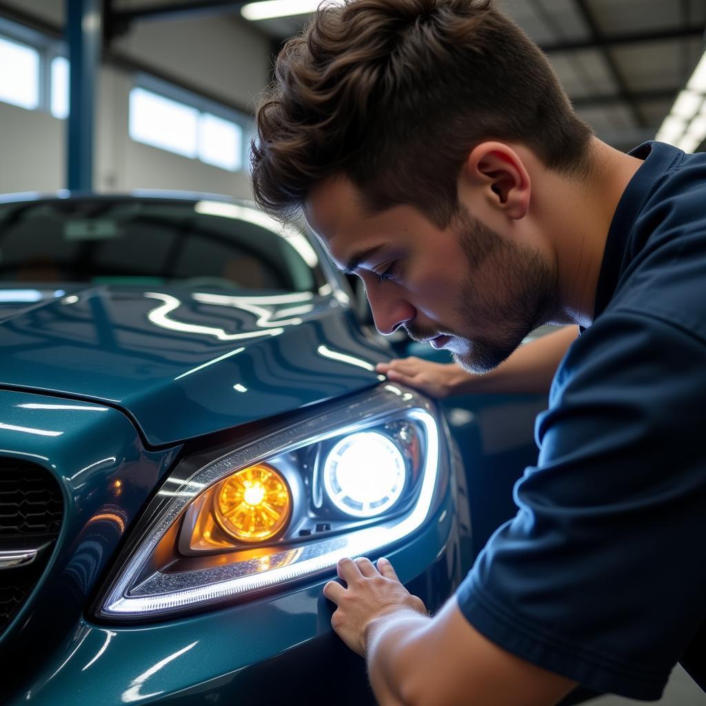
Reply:
[[[361, 659], [330, 628], [330, 575], [140, 626], [92, 612], [180, 458], [382, 384], [374, 363], [390, 349], [360, 328], [333, 282], [304, 303], [70, 285], [4, 303], [0, 453], [49, 469], [66, 509], [56, 553], [0, 638], [3, 702], [373, 702]], [[435, 515], [388, 553], [431, 610], [469, 556], [462, 470], [448, 449], [442, 464]]]

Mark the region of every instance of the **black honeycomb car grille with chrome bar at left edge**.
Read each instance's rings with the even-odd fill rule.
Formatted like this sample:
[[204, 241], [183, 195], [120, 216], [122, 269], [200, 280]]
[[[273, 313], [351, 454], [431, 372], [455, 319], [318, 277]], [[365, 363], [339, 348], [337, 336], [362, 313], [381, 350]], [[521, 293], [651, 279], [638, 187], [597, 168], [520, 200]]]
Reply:
[[0, 568], [0, 633], [40, 580], [61, 527], [59, 483], [33, 463], [0, 457], [0, 567], [8, 551], [36, 551], [29, 563]]

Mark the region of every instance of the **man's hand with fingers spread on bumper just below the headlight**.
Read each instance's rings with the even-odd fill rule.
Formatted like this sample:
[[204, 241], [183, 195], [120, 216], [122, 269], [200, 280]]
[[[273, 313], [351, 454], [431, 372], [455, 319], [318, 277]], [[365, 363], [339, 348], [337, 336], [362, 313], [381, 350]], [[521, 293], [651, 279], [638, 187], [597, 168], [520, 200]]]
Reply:
[[347, 587], [335, 581], [323, 587], [325, 597], [337, 606], [331, 616], [331, 626], [361, 657], [366, 654], [369, 627], [376, 619], [401, 611], [426, 616], [421, 599], [400, 583], [387, 559], [378, 559], [376, 568], [364, 557], [355, 561], [345, 558], [338, 562], [337, 571]]

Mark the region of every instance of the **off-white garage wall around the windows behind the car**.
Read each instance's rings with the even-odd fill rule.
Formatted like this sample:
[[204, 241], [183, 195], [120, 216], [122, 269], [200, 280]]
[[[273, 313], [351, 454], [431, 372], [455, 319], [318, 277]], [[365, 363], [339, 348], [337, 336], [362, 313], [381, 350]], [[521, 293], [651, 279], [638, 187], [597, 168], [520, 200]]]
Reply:
[[[44, 20], [63, 21], [63, 3], [57, 0], [6, 1]], [[268, 78], [268, 40], [244, 21], [227, 16], [137, 23], [114, 47], [170, 76], [203, 86], [213, 97], [250, 110]], [[95, 126], [97, 191], [179, 189], [249, 198], [246, 172], [227, 172], [131, 140], [128, 94], [132, 85], [129, 73], [102, 67]], [[0, 193], [64, 188], [65, 145], [65, 121], [0, 102]]]

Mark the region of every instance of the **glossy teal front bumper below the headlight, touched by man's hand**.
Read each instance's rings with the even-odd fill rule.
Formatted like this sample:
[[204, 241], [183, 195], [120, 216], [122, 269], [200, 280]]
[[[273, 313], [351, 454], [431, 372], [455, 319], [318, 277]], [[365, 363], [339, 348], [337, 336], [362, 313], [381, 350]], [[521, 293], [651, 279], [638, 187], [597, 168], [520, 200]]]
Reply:
[[[452, 483], [431, 520], [387, 554], [402, 582], [430, 611], [462, 578], [463, 544], [469, 538], [456, 505]], [[8, 704], [183, 706], [256, 697], [292, 704], [372, 704], [364, 661], [330, 627], [333, 605], [322, 595], [329, 578], [140, 628], [100, 626], [81, 618]]]

